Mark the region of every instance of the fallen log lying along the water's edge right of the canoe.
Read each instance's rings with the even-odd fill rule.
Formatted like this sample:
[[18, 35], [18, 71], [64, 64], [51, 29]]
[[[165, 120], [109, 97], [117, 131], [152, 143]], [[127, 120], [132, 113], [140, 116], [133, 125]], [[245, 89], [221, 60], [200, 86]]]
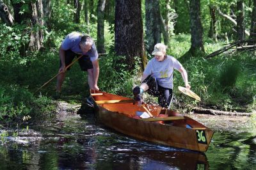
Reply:
[[193, 112], [199, 114], [211, 114], [211, 115], [226, 115], [226, 116], [252, 116], [252, 112], [227, 112], [227, 111], [216, 111], [214, 109], [204, 109], [194, 107], [192, 109]]

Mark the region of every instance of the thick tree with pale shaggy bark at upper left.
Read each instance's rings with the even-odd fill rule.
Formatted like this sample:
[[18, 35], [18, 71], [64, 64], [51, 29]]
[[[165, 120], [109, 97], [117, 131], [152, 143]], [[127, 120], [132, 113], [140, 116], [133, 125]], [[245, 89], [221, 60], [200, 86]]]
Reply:
[[[43, 30], [44, 26], [44, 12], [42, 0], [36, 1], [14, 1], [12, 0], [12, 6], [14, 11], [14, 20], [18, 24], [26, 24], [28, 26], [28, 33], [30, 41], [28, 44], [23, 45], [20, 50], [20, 54], [25, 56], [26, 50], [39, 50], [42, 47], [42, 42], [44, 39]], [[22, 8], [28, 7], [24, 12]]]

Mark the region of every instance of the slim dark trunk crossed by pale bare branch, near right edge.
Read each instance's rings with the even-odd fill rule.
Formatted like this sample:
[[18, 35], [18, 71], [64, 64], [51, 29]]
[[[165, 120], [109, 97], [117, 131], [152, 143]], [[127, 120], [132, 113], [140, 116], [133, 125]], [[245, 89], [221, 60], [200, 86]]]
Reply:
[[237, 1], [237, 40], [244, 40], [244, 27], [244, 2], [239, 0]]

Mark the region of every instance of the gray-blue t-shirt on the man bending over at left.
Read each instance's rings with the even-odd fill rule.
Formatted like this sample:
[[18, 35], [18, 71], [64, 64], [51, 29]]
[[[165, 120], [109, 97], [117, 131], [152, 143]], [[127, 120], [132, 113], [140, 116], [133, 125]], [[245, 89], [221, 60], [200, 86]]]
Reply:
[[93, 42], [92, 48], [88, 52], [83, 53], [79, 46], [82, 36], [83, 34], [79, 32], [70, 33], [69, 35], [66, 36], [66, 38], [61, 43], [61, 49], [72, 50], [72, 52], [76, 54], [83, 54], [83, 55], [89, 56], [91, 61], [96, 61], [99, 58], [99, 54], [97, 52], [95, 43]]

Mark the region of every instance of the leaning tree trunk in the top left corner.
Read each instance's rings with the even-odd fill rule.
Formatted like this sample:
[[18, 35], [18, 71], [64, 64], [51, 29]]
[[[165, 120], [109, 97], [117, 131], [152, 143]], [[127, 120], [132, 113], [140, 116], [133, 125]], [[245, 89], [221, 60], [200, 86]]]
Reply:
[[8, 6], [2, 0], [0, 0], [0, 18], [7, 26], [12, 26], [13, 17], [9, 12]]

